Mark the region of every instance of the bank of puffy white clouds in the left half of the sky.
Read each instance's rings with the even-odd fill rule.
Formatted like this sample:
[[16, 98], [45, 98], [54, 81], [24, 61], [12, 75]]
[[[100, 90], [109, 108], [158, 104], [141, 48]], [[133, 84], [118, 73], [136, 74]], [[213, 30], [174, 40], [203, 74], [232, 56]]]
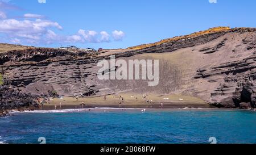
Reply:
[[63, 43], [109, 43], [120, 41], [125, 36], [122, 31], [106, 31], [80, 29], [75, 34], [61, 35], [64, 28], [57, 22], [46, 20], [44, 15], [26, 13], [17, 18], [8, 18], [5, 10], [13, 9], [7, 1], [0, 0], [0, 35], [15, 44], [63, 44]]

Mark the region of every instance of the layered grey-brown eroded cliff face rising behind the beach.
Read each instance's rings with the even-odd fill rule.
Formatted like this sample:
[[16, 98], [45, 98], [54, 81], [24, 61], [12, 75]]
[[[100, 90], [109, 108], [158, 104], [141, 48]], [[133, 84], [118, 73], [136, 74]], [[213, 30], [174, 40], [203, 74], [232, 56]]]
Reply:
[[159, 44], [115, 52], [116, 58], [159, 59], [159, 86], [147, 81], [101, 81], [97, 62], [113, 52], [69, 52], [52, 48], [0, 53], [6, 82], [23, 93], [63, 96], [104, 95], [119, 91], [184, 93], [217, 107], [255, 107], [254, 28], [217, 28]]

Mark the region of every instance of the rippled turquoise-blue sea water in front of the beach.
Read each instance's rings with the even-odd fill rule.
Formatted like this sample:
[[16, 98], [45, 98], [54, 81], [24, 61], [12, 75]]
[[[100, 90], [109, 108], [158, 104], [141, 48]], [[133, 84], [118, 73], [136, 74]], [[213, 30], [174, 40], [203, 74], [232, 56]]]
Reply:
[[256, 112], [241, 110], [20, 113], [0, 118], [1, 143], [256, 143]]

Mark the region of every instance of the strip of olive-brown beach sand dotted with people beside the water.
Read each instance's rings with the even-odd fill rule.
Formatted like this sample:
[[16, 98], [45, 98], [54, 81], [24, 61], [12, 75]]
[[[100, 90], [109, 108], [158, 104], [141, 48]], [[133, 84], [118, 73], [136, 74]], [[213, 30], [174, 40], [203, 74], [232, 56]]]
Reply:
[[[113, 107], [113, 108], [210, 108], [211, 106], [196, 97], [190, 97], [186, 95], [152, 95], [148, 94], [147, 99], [152, 102], [146, 102], [143, 98], [143, 94], [118, 94], [123, 97], [123, 101], [117, 98], [117, 95], [106, 95], [100, 97], [64, 97], [64, 98], [52, 98], [50, 104], [44, 104], [40, 107], [41, 110], [54, 110], [56, 109], [73, 109], [73, 108], [95, 108], [95, 107]], [[136, 99], [137, 98], [137, 99]], [[119, 104], [121, 102], [121, 104]], [[84, 103], [84, 107], [82, 106]], [[162, 104], [161, 104], [162, 103]], [[162, 106], [163, 105], [163, 106]]]

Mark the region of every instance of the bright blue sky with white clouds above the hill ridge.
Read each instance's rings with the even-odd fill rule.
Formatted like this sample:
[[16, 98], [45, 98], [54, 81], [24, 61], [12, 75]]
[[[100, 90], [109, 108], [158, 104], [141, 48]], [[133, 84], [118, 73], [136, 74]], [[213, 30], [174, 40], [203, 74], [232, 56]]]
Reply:
[[210, 1], [0, 0], [0, 42], [127, 48], [217, 26], [256, 27], [256, 1]]

